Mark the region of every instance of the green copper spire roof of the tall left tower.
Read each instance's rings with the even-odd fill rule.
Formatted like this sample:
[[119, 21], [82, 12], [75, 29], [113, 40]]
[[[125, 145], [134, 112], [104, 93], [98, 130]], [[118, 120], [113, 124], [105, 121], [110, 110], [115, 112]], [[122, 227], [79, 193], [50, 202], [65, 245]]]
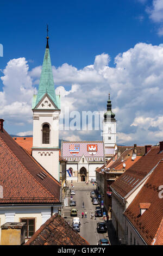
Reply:
[[50, 57], [49, 46], [48, 46], [48, 36], [47, 36], [47, 45], [46, 45], [46, 50], [45, 50], [45, 56], [43, 59], [41, 78], [40, 78], [40, 83], [39, 83], [39, 91], [38, 91], [37, 95], [33, 96], [32, 108], [35, 108], [35, 106], [39, 103], [39, 101], [42, 99], [42, 97], [46, 93], [51, 98], [51, 100], [54, 102], [54, 104], [59, 108], [60, 102], [55, 95], [51, 57]]

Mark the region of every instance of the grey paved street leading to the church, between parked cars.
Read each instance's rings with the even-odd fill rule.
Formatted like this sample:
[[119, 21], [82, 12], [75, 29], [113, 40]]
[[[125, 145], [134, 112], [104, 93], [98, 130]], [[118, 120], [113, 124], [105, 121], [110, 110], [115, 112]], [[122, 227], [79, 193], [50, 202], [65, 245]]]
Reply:
[[[96, 220], [93, 217], [91, 220], [91, 212], [95, 215], [95, 209], [97, 205], [93, 205], [91, 202], [90, 192], [96, 189], [96, 185], [93, 186], [91, 183], [86, 185], [85, 182], [74, 182], [74, 188], [72, 190], [76, 191], [76, 195], [73, 196], [73, 200], [77, 202], [77, 206], [74, 206], [78, 210], [78, 217], [80, 218], [81, 226], [79, 234], [86, 239], [90, 245], [97, 245], [100, 239], [108, 239], [108, 233], [97, 233], [97, 223], [101, 220], [101, 217], [97, 217]], [[71, 188], [71, 183], [68, 184], [69, 190]], [[70, 216], [70, 191], [67, 191], [68, 205], [65, 206], [63, 210], [63, 217], [65, 220], [72, 225], [73, 217]], [[84, 202], [84, 208], [83, 208]], [[82, 211], [87, 211], [87, 218], [82, 218]]]

